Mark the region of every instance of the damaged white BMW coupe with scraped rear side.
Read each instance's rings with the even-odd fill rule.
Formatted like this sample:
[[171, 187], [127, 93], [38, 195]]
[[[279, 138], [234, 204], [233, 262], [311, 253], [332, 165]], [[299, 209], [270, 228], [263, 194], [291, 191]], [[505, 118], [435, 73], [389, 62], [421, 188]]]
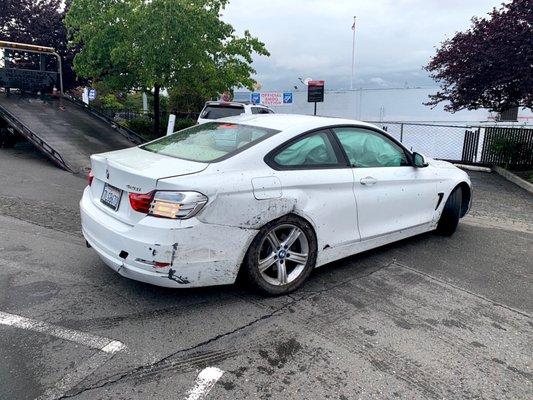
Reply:
[[232, 117], [93, 155], [83, 235], [122, 276], [235, 282], [271, 295], [313, 268], [408, 236], [451, 235], [468, 175], [352, 120]]

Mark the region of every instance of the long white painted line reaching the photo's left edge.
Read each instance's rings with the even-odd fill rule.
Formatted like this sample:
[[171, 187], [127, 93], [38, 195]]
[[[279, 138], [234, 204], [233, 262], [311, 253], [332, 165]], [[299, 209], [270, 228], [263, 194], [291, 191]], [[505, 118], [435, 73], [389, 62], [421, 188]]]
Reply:
[[84, 346], [110, 354], [121, 351], [126, 347], [123, 343], [117, 340], [91, 335], [90, 333], [80, 332], [74, 329], [62, 328], [47, 322], [36, 321], [34, 319], [21, 317], [20, 315], [9, 314], [2, 311], [0, 311], [0, 325], [13, 326], [15, 328], [45, 333], [47, 335], [82, 344]]

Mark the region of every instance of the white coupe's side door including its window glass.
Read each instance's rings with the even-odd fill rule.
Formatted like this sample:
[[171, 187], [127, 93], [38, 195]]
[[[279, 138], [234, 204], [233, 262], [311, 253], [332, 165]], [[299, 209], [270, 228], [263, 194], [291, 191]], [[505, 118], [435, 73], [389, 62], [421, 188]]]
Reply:
[[362, 240], [433, 220], [439, 197], [432, 167], [413, 167], [405, 149], [381, 132], [333, 131], [352, 166]]

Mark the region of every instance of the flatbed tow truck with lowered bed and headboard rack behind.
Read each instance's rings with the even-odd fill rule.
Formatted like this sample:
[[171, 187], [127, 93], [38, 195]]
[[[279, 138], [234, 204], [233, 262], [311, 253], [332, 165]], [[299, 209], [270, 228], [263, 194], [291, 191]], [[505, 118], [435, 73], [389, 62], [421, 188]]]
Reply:
[[2, 135], [22, 135], [67, 171], [84, 173], [91, 154], [144, 142], [64, 95], [61, 57], [51, 47], [0, 40], [0, 88], [0, 144]]

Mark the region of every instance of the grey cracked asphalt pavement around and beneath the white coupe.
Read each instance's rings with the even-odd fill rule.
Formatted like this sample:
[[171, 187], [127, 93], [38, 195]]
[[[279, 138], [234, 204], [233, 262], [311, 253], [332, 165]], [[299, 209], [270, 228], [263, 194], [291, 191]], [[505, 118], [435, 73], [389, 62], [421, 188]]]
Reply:
[[531, 398], [533, 196], [471, 177], [451, 238], [264, 298], [118, 276], [81, 236], [85, 178], [0, 150], [0, 399]]

